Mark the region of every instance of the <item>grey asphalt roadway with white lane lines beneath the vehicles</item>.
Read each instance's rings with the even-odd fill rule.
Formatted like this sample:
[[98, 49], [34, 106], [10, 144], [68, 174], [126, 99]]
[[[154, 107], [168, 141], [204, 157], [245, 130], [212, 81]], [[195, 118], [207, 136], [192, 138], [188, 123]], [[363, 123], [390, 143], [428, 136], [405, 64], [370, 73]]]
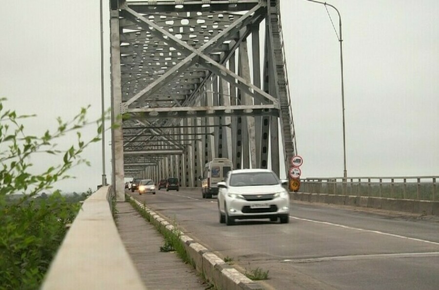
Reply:
[[220, 224], [217, 199], [131, 193], [267, 289], [439, 289], [439, 219], [292, 201], [290, 223]]

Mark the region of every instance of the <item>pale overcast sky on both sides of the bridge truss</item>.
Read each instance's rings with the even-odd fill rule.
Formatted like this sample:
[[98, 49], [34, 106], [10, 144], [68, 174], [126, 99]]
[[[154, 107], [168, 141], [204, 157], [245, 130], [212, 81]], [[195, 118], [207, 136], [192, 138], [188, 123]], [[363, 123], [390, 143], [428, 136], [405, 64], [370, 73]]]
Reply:
[[[439, 1], [330, 3], [343, 24], [348, 176], [438, 175]], [[338, 31], [338, 16], [328, 10]], [[281, 17], [302, 177], [342, 176], [339, 42], [331, 20], [324, 5], [306, 0], [281, 0]], [[100, 116], [98, 0], [4, 1], [0, 19], [0, 96], [6, 107], [38, 115], [27, 130], [42, 134], [57, 116], [69, 119], [88, 104], [90, 119]], [[105, 14], [107, 59], [108, 33]], [[107, 108], [107, 60], [104, 69]], [[73, 170], [77, 179], [60, 184], [63, 191], [100, 184], [101, 143], [84, 157], [92, 166]]]

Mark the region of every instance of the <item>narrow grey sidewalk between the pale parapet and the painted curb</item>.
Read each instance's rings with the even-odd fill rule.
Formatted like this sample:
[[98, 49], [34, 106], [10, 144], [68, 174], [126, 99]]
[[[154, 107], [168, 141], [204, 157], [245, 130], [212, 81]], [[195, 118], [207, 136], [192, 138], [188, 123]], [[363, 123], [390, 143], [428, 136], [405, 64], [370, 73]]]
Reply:
[[120, 238], [147, 289], [205, 289], [196, 271], [174, 252], [160, 252], [164, 239], [128, 202], [116, 205]]

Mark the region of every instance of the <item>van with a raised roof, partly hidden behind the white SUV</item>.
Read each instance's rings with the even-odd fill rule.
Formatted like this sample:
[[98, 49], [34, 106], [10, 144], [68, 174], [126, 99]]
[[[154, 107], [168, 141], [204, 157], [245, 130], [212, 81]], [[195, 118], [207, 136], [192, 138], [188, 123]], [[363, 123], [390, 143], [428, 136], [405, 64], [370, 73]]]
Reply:
[[201, 179], [201, 193], [203, 198], [212, 198], [218, 195], [217, 183], [224, 181], [229, 171], [233, 170], [233, 163], [227, 158], [214, 158], [204, 165]]

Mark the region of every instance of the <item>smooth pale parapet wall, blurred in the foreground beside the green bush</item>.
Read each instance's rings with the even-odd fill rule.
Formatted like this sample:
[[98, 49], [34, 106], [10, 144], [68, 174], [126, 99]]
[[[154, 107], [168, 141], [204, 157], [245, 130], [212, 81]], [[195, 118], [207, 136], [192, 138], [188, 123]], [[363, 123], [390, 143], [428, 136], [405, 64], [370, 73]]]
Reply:
[[84, 201], [42, 290], [146, 289], [114, 223], [109, 190], [101, 187]]

